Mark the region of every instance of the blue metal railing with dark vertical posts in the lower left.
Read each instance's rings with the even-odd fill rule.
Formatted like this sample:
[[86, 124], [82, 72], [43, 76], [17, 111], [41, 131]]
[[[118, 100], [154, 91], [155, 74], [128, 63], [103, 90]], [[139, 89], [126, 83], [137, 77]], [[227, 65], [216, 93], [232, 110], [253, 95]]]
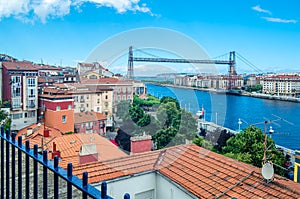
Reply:
[[[38, 145], [30, 149], [29, 140], [25, 146], [22, 144], [22, 136], [16, 141], [16, 134], [10, 135], [9, 130], [4, 130], [1, 126], [1, 199], [6, 198], [34, 198], [43, 197], [48, 199], [74, 198], [74, 188], [76, 194], [81, 194], [82, 198], [112, 199], [107, 196], [107, 184], [102, 182], [101, 191], [88, 184], [88, 173], [84, 172], [82, 180], [72, 174], [72, 163], [69, 163], [67, 170], [58, 166], [58, 157], [54, 161], [48, 160], [47, 151], [38, 153]], [[17, 155], [16, 155], [17, 150]], [[23, 161], [25, 160], [25, 161]], [[16, 164], [17, 162], [17, 164]], [[23, 171], [25, 167], [25, 171]], [[39, 169], [41, 168], [42, 169]], [[17, 169], [17, 170], [16, 170]], [[39, 178], [42, 173], [42, 178]], [[49, 175], [49, 174], [53, 175]], [[52, 179], [49, 179], [52, 177]], [[25, 180], [23, 179], [25, 178]], [[25, 184], [24, 184], [25, 183]], [[66, 191], [64, 185], [66, 184]], [[17, 186], [16, 186], [17, 185]], [[50, 192], [51, 189], [51, 194]], [[24, 192], [25, 189], [25, 192]], [[66, 194], [66, 196], [65, 196]], [[63, 197], [62, 197], [63, 195]], [[76, 196], [78, 197], [78, 196]], [[130, 199], [129, 194], [124, 195], [124, 199]]]

